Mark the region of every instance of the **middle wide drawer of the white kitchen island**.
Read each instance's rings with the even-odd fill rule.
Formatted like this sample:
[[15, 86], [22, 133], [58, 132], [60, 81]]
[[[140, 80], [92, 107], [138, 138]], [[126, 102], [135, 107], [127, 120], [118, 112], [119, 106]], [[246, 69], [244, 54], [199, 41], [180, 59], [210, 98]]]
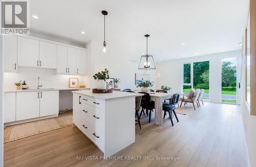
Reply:
[[82, 103], [82, 114], [83, 117], [87, 118], [90, 122], [96, 124], [97, 126], [104, 127], [105, 121], [105, 111], [88, 105], [86, 103]]

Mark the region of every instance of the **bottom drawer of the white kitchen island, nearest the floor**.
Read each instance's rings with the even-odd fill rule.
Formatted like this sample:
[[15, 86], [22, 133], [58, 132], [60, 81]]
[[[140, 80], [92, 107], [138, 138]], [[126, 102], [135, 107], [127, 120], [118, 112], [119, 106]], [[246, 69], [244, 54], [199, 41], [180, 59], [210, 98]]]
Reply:
[[99, 148], [104, 152], [104, 130], [102, 127], [95, 125], [86, 118], [81, 117], [81, 129]]

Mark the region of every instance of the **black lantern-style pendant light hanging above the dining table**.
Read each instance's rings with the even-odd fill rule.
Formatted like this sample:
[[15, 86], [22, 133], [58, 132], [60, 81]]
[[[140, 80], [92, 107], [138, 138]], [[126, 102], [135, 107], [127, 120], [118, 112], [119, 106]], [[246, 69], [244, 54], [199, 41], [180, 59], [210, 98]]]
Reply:
[[138, 69], [156, 69], [153, 56], [147, 54], [147, 37], [149, 37], [150, 35], [146, 34], [144, 36], [146, 37], [146, 55], [141, 56]]

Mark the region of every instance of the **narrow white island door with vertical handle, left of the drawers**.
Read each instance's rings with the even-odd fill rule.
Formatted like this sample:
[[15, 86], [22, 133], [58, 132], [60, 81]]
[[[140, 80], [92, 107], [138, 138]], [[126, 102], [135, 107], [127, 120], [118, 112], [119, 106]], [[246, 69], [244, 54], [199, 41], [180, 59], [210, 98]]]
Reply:
[[81, 129], [81, 96], [77, 93], [73, 93], [73, 123]]

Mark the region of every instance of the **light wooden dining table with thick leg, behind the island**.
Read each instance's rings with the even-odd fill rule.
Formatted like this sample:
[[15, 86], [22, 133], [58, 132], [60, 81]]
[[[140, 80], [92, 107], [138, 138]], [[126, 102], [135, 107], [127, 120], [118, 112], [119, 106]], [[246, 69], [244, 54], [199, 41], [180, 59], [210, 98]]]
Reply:
[[[135, 92], [141, 92], [135, 90]], [[149, 92], [151, 100], [155, 101], [155, 124], [160, 126], [163, 124], [163, 101], [173, 97], [172, 93]]]

